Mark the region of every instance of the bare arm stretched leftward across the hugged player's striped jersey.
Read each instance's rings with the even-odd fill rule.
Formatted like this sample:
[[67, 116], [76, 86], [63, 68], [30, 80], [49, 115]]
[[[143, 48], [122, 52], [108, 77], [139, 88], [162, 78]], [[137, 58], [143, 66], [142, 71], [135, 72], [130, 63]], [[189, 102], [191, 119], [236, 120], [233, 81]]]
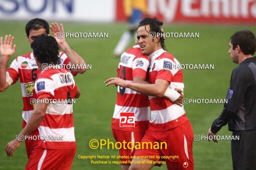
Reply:
[[157, 79], [155, 84], [141, 84], [135, 82], [127, 82], [121, 78], [113, 77], [105, 81], [106, 86], [110, 84], [117, 84], [124, 88], [131, 88], [137, 92], [143, 93], [145, 95], [153, 95], [157, 97], [162, 97], [169, 86], [169, 82], [164, 79]]

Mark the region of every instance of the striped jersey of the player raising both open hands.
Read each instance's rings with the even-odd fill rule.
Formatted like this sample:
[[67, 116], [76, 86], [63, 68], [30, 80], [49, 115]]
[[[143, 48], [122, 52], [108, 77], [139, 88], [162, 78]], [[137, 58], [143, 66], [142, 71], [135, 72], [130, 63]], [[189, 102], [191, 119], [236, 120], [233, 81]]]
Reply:
[[[64, 52], [60, 52], [59, 55], [61, 64], [68, 64], [70, 62]], [[7, 71], [13, 79], [12, 84], [16, 83], [20, 78], [23, 97], [22, 127], [24, 128], [34, 110], [33, 104], [30, 103], [30, 99], [33, 98], [33, 88], [36, 78], [40, 73], [33, 52], [16, 57]]]

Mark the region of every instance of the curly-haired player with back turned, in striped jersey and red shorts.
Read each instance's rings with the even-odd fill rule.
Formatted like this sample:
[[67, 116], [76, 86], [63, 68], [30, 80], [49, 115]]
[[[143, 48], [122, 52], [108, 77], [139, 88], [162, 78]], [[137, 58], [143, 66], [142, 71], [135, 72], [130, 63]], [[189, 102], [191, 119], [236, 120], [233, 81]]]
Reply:
[[[41, 71], [43, 63], [60, 63], [54, 37], [39, 35], [31, 46]], [[35, 91], [35, 110], [19, 135], [26, 136], [39, 126], [39, 135], [44, 139], [38, 140], [39, 147], [29, 159], [26, 169], [70, 169], [76, 150], [71, 101], [80, 95], [73, 75], [66, 69], [43, 70], [36, 79]], [[9, 142], [7, 154], [12, 156], [20, 144], [17, 138]]]

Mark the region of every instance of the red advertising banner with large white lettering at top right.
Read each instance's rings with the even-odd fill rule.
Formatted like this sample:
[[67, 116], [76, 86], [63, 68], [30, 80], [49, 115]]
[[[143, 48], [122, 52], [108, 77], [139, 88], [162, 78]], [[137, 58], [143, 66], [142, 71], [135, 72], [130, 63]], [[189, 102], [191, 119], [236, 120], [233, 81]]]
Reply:
[[[256, 23], [256, 0], [147, 0], [147, 15], [165, 22]], [[125, 20], [123, 0], [116, 18]]]

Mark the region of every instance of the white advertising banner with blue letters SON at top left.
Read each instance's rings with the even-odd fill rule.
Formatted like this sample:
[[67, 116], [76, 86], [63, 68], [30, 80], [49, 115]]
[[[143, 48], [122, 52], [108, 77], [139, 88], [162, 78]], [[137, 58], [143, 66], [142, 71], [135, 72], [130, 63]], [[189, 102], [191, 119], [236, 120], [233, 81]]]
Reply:
[[115, 19], [115, 0], [0, 0], [0, 19], [109, 22]]

